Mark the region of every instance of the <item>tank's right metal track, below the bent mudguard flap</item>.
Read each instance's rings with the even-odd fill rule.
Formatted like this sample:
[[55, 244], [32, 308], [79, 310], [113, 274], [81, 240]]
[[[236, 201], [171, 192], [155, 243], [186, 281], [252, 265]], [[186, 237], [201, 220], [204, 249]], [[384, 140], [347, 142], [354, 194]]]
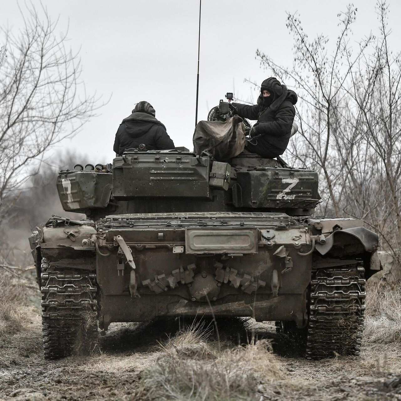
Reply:
[[362, 263], [312, 271], [308, 291], [308, 324], [276, 322], [276, 331], [296, 340], [306, 358], [358, 355], [365, 313], [365, 269]]

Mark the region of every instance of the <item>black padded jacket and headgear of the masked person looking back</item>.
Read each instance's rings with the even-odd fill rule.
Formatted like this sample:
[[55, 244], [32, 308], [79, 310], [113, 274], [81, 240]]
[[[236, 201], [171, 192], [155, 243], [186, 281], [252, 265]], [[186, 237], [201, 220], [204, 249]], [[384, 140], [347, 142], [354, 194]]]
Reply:
[[298, 96], [273, 77], [263, 81], [261, 91], [263, 89], [274, 96], [269, 106], [265, 104], [262, 94], [255, 105], [232, 104], [237, 108], [240, 117], [257, 120], [254, 125], [255, 134], [261, 136], [248, 142], [247, 150], [265, 158], [275, 158], [284, 153], [290, 141], [295, 117], [294, 104]]

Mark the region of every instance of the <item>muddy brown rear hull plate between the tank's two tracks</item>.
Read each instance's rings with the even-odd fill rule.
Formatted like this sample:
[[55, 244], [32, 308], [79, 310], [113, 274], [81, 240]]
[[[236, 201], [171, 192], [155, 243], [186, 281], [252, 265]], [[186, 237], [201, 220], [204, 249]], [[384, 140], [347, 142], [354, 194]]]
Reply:
[[[100, 320], [107, 327], [215, 314], [302, 325], [312, 269], [312, 255], [299, 254], [311, 247], [306, 227], [282, 213], [108, 217], [96, 255]], [[127, 263], [118, 269], [117, 237], [132, 251], [135, 269]]]

